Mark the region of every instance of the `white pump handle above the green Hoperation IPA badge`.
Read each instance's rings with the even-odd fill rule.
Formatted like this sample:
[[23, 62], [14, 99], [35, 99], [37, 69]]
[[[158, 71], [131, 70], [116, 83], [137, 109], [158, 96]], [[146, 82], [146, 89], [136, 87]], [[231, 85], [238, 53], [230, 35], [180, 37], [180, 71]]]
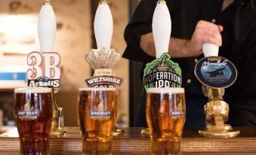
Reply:
[[156, 46], [156, 58], [159, 58], [162, 53], [168, 52], [171, 37], [171, 16], [166, 2], [163, 0], [157, 2], [153, 14], [152, 29]]

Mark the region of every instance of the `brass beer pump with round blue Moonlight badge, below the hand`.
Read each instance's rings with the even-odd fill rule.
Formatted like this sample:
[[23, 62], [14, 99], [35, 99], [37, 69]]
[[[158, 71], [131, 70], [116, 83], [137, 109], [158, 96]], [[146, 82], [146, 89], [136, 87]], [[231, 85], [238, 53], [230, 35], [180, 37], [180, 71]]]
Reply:
[[202, 51], [205, 58], [196, 64], [196, 78], [202, 83], [202, 92], [208, 97], [205, 104], [206, 129], [199, 130], [205, 137], [229, 138], [239, 135], [233, 131], [228, 120], [229, 105], [224, 102], [224, 89], [236, 81], [236, 67], [228, 60], [218, 56], [219, 47], [205, 43]]

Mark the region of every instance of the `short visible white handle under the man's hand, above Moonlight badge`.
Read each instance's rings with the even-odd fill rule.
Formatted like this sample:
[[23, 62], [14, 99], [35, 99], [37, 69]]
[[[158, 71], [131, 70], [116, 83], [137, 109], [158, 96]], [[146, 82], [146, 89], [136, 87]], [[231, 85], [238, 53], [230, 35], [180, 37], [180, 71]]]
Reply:
[[205, 57], [218, 56], [219, 47], [216, 44], [204, 43], [202, 44], [202, 53]]

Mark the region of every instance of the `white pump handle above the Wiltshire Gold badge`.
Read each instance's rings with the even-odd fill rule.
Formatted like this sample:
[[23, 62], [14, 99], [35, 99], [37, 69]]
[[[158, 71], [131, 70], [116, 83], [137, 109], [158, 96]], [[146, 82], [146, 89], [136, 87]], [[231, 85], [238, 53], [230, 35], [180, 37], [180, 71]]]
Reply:
[[94, 18], [97, 48], [110, 48], [113, 36], [113, 17], [106, 1], [101, 0]]

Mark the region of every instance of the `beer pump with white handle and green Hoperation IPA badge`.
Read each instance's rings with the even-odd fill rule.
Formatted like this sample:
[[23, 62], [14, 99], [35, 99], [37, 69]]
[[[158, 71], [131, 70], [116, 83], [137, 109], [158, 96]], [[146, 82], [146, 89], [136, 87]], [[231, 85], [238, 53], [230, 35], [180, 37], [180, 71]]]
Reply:
[[[156, 47], [156, 59], [147, 63], [144, 68], [143, 84], [145, 90], [153, 87], [181, 87], [181, 70], [176, 62], [171, 60], [168, 53], [169, 42], [171, 38], [171, 15], [168, 11], [165, 0], [157, 2], [152, 21], [153, 38]], [[157, 74], [172, 74], [180, 79], [180, 82], [174, 81], [171, 77], [159, 77]], [[149, 135], [148, 129], [142, 129], [141, 135]]]

